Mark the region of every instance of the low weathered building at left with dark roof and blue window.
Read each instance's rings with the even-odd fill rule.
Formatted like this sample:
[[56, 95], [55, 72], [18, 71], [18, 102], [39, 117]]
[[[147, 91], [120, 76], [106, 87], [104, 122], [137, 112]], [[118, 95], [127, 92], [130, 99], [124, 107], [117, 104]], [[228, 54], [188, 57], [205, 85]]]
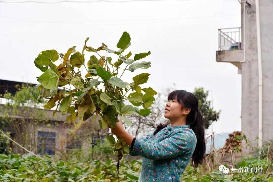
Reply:
[[[17, 84], [22, 85], [23, 82], [0, 80], [0, 98], [5, 92], [14, 95], [17, 91], [15, 87]], [[35, 84], [29, 85], [34, 86]], [[7, 116], [12, 122], [4, 126], [5, 133], [10, 132], [13, 140], [35, 154], [54, 155], [55, 157], [62, 156], [72, 148], [93, 148], [98, 138], [103, 143], [103, 139], [109, 134], [109, 129], [100, 129], [99, 117], [96, 117], [93, 124], [93, 116], [86, 121], [79, 120], [78, 117], [73, 123], [64, 124], [70, 114], [63, 115], [57, 111], [53, 116], [53, 111], [44, 108], [27, 108], [24, 114], [14, 114], [12, 108], [7, 110], [4, 104], [0, 104], [0, 120], [3, 119], [4, 113], [8, 112]], [[71, 129], [74, 135], [70, 134]], [[10, 146], [14, 153], [25, 152], [13, 142], [10, 142]]]

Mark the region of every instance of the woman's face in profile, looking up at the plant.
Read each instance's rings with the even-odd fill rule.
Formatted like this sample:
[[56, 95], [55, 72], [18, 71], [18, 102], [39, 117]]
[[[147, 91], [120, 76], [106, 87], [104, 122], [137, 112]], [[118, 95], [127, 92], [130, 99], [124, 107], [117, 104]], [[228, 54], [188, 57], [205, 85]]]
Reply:
[[183, 116], [182, 104], [180, 104], [177, 99], [168, 100], [165, 106], [165, 114], [164, 117], [171, 120], [177, 119]]

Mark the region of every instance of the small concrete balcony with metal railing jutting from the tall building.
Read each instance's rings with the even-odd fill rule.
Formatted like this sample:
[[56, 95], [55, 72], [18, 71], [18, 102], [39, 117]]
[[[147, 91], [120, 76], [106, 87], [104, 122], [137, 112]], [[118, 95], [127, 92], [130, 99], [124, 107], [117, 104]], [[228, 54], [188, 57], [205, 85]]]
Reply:
[[241, 74], [241, 62], [244, 60], [241, 27], [218, 29], [218, 32], [216, 61], [232, 63], [238, 67], [238, 74]]

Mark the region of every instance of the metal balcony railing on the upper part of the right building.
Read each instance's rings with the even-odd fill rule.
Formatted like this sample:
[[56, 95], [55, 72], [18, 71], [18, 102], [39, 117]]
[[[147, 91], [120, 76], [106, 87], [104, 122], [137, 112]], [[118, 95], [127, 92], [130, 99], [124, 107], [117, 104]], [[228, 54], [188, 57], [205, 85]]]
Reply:
[[242, 49], [241, 27], [219, 30], [219, 51]]

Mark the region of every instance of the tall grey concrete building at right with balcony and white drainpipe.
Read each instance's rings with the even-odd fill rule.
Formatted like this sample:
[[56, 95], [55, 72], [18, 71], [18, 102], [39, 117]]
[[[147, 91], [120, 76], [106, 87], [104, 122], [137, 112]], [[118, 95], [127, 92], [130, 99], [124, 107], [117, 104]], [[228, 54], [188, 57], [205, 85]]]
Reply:
[[242, 0], [242, 27], [219, 29], [216, 61], [232, 63], [242, 74], [242, 132], [253, 147], [273, 139], [272, 10], [272, 0]]

